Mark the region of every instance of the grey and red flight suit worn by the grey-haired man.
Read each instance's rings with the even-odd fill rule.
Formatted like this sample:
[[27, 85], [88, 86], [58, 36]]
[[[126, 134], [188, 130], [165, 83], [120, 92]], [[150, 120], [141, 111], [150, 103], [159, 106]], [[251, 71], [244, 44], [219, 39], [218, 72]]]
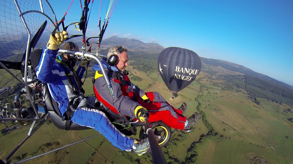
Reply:
[[[139, 87], [133, 85], [126, 74], [119, 73], [118, 69], [102, 60], [106, 72], [118, 72], [119, 79], [109, 77], [114, 99], [110, 94], [108, 85], [106, 84], [100, 67], [96, 64], [93, 70], [96, 71], [94, 92], [98, 101], [102, 102], [106, 107], [115, 113], [120, 113], [131, 118], [136, 118], [134, 109], [137, 106], [143, 106], [149, 111], [149, 121], [163, 121], [166, 125], [174, 129], [184, 130], [186, 125], [186, 117], [180, 116], [182, 111], [172, 107], [166, 100], [157, 92], [144, 93]], [[109, 75], [109, 74], [108, 74]], [[145, 103], [141, 97], [147, 95], [150, 103]]]

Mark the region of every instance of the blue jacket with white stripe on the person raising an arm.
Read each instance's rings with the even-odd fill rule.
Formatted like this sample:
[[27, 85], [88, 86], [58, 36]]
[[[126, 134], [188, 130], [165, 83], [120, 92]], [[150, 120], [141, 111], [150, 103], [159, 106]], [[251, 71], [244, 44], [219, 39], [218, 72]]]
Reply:
[[[59, 62], [55, 61], [58, 54], [57, 51], [58, 50], [50, 50], [45, 46], [36, 74], [40, 81], [48, 84], [50, 94], [52, 98], [58, 102], [59, 110], [63, 115], [67, 109], [68, 102], [74, 99], [76, 95], [74, 94], [71, 83], [66, 76], [64, 67], [62, 67]], [[76, 78], [82, 78], [85, 68], [81, 66], [78, 67], [76, 74], [79, 77], [76, 77], [70, 69], [66, 69], [75, 77], [76, 84], [78, 84]]]

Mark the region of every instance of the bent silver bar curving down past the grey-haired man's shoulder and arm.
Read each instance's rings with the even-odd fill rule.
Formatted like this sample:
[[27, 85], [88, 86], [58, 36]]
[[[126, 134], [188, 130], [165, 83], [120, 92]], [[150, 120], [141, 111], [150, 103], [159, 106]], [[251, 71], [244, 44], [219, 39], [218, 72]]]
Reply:
[[[98, 62], [98, 64], [99, 64], [100, 68], [104, 68], [101, 60], [96, 56], [96, 54], [95, 55], [90, 54], [90, 53], [84, 53], [83, 54], [82, 52], [76, 52], [76, 51], [71, 51], [71, 50], [62, 50], [62, 49], [59, 49], [58, 53], [67, 53], [67, 54], [71, 54], [71, 55], [89, 57], [89, 58], [92, 58], [92, 59], [96, 60]], [[100, 56], [104, 57], [105, 55], [100, 55]], [[101, 71], [102, 71], [104, 79], [105, 79], [105, 81], [106, 81], [106, 83], [107, 83], [107, 85], [109, 87], [110, 93], [111, 93], [112, 97], [114, 98], [112, 86], [111, 86], [111, 83], [110, 83], [110, 81], [108, 79], [106, 71], [105, 71], [105, 69], [101, 69]]]

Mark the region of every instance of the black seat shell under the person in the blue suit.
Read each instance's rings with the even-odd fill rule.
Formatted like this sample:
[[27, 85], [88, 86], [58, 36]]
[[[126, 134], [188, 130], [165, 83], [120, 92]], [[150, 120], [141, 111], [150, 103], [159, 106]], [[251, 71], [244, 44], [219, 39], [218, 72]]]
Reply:
[[[54, 125], [58, 129], [65, 130], [65, 122], [66, 121], [62, 121], [62, 115], [59, 111], [58, 104], [54, 99], [52, 99], [46, 83], [43, 83], [43, 92], [44, 92], [44, 99], [45, 99], [45, 104], [46, 104], [46, 107], [48, 110], [48, 114], [51, 117]], [[86, 129], [91, 129], [91, 128], [86, 127], [86, 126], [81, 126], [81, 125], [74, 123], [72, 121], [70, 122], [69, 130], [86, 130]]]

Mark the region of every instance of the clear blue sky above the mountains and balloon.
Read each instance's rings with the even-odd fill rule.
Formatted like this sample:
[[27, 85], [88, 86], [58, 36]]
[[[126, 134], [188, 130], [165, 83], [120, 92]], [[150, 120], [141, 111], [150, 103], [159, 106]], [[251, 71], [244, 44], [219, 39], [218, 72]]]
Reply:
[[[49, 2], [60, 20], [71, 0], [62, 1], [63, 6], [60, 0]], [[100, 0], [94, 0], [86, 36], [96, 31], [99, 6]], [[66, 16], [71, 21], [65, 24], [80, 15], [80, 2], [74, 0]], [[104, 39], [113, 35], [187, 48], [201, 57], [241, 64], [293, 85], [292, 0], [120, 0]]]

